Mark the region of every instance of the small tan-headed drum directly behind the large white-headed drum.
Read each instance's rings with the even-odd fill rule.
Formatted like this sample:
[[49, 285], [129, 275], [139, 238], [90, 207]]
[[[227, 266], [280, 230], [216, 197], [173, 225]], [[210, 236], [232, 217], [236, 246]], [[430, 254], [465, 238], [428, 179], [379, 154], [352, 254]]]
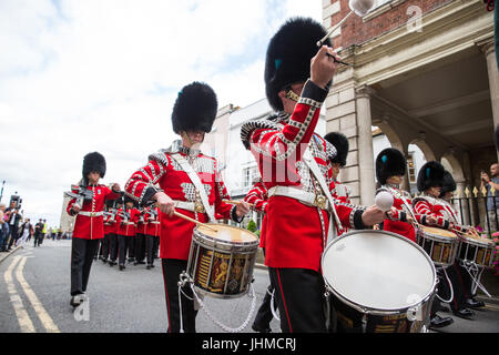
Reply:
[[459, 246], [455, 233], [426, 225], [417, 229], [417, 243], [431, 257], [435, 265], [442, 267], [454, 264]]

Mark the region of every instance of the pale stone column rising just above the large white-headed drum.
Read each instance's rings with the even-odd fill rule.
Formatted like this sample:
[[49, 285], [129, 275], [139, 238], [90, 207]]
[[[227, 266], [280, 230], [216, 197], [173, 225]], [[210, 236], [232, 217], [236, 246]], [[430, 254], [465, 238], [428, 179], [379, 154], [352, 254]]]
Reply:
[[370, 115], [370, 94], [373, 89], [363, 87], [357, 89], [357, 129], [358, 129], [358, 164], [360, 179], [360, 204], [370, 206], [374, 204], [376, 191], [373, 130]]

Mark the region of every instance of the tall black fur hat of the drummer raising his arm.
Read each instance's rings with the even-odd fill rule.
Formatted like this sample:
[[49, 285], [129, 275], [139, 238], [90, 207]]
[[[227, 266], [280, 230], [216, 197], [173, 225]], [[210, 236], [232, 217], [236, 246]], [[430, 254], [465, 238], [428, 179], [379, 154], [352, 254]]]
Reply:
[[[281, 90], [310, 77], [310, 59], [326, 30], [310, 18], [287, 20], [271, 39], [265, 59], [265, 92], [271, 106], [282, 111]], [[329, 39], [324, 44], [330, 45]]]

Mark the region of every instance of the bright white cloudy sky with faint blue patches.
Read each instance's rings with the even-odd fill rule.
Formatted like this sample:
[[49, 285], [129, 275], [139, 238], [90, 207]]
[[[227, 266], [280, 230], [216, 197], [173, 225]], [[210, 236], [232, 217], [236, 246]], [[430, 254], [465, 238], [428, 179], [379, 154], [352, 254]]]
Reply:
[[17, 191], [58, 226], [91, 151], [123, 187], [175, 139], [183, 85], [210, 83], [220, 106], [262, 99], [267, 42], [298, 14], [322, 22], [322, 0], [0, 0], [1, 202]]

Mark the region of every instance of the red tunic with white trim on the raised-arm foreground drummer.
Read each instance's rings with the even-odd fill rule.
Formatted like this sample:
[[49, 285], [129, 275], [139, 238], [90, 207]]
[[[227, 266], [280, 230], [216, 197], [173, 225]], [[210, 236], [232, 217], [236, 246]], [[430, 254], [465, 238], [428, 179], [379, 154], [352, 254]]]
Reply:
[[[303, 154], [309, 146], [335, 197], [333, 169], [329, 162], [334, 148], [314, 134], [322, 101], [326, 95], [326, 90], [307, 81], [291, 116], [279, 114], [274, 121], [268, 119], [252, 121], [242, 128], [243, 143], [249, 146], [255, 156], [269, 194], [265, 231], [267, 266], [319, 270], [329, 213], [296, 199], [272, 195], [271, 189], [294, 186], [308, 194], [316, 192], [318, 184], [303, 162]], [[363, 209], [352, 207], [339, 201], [335, 206], [344, 226], [353, 227], [354, 221], [359, 223], [361, 212], [360, 214], [356, 212]]]

